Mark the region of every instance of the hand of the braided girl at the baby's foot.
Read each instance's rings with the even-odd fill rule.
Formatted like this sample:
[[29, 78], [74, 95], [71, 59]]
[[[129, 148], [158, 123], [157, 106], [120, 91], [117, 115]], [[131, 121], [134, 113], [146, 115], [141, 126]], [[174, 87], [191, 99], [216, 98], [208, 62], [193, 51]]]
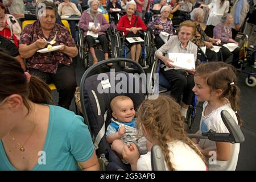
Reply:
[[128, 163], [137, 164], [139, 159], [139, 150], [134, 143], [130, 143], [130, 146], [123, 146], [122, 156]]

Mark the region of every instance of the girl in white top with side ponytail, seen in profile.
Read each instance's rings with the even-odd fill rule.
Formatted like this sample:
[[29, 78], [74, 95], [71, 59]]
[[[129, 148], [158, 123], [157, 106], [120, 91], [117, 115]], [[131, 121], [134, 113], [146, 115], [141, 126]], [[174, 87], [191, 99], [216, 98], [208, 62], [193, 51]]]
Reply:
[[[227, 110], [235, 121], [241, 125], [237, 115], [240, 89], [236, 85], [237, 77], [232, 65], [222, 62], [201, 64], [196, 68], [195, 92], [199, 101], [205, 101], [200, 122], [204, 133], [212, 129], [216, 133], [229, 133], [221, 119], [221, 111]], [[235, 170], [240, 144], [213, 142], [200, 139], [201, 152], [209, 158], [209, 170]]]

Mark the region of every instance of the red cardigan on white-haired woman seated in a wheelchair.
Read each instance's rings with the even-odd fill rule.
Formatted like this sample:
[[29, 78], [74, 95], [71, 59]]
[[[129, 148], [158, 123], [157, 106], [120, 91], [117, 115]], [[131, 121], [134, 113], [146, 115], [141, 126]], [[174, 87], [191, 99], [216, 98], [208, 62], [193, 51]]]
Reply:
[[[134, 14], [131, 16], [131, 21], [128, 19], [127, 14], [122, 16], [120, 18], [118, 24], [117, 24], [117, 30], [123, 31], [123, 32], [125, 32], [125, 35], [127, 35], [128, 31], [126, 31], [125, 29], [133, 27], [133, 24], [135, 22], [135, 18], [136, 18], [136, 15], [134, 15]], [[144, 24], [144, 22], [142, 21], [142, 19], [139, 16], [137, 18], [137, 22], [135, 24], [135, 27], [137, 27], [137, 28], [141, 27], [142, 31], [147, 30], [146, 25]]]

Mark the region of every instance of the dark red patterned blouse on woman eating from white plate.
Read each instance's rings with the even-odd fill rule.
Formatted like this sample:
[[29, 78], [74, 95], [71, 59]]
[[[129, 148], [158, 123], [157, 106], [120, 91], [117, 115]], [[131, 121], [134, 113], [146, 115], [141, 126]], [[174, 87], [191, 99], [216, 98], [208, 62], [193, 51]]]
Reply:
[[[26, 27], [24, 27], [22, 35], [20, 36], [19, 44], [30, 45], [36, 42], [36, 40], [39, 38], [44, 38], [47, 41], [51, 41], [55, 37], [55, 34], [56, 43], [52, 44], [52, 46], [58, 46], [60, 43], [63, 43], [65, 46], [75, 47], [75, 42], [66, 27], [55, 23], [55, 26], [53, 27], [53, 30], [50, 32], [49, 38], [47, 39], [43, 35], [39, 21], [28, 24]], [[39, 71], [46, 73], [56, 73], [58, 64], [71, 65], [72, 58], [59, 51], [52, 51], [47, 53], [36, 52], [33, 56], [26, 59], [26, 62], [27, 68], [38, 69]]]

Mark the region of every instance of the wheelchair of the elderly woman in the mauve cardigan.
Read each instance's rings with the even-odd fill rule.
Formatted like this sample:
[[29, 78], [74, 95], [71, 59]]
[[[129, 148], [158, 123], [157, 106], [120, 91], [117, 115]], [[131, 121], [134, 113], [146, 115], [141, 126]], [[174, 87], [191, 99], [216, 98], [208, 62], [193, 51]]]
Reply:
[[[108, 14], [104, 14], [106, 20], [109, 22], [109, 15]], [[107, 31], [106, 31], [106, 37], [108, 39], [108, 47], [109, 47], [109, 57], [112, 56], [112, 50], [113, 50], [113, 45], [112, 45], [112, 32], [113, 29], [110, 27]], [[85, 41], [85, 36], [84, 36], [84, 31], [79, 27], [79, 42], [78, 42], [78, 47], [79, 47], [79, 56], [80, 59], [82, 61], [82, 64], [84, 65], [84, 68], [89, 68], [89, 54], [90, 54], [90, 50], [89, 50], [89, 46], [88, 43]], [[101, 45], [100, 45], [100, 41], [96, 40], [94, 45], [93, 45], [94, 49], [101, 49]]]

